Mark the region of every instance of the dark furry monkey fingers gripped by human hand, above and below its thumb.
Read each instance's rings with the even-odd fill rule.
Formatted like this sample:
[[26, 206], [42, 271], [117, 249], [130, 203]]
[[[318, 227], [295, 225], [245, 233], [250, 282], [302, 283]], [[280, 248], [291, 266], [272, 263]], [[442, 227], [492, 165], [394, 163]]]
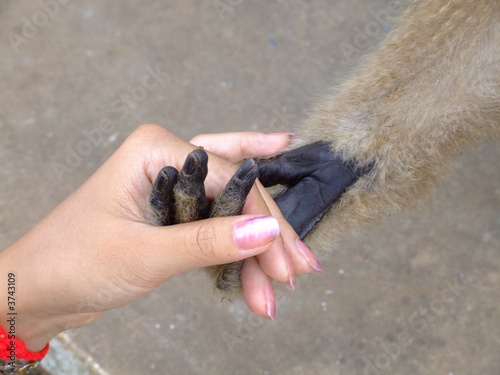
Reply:
[[[159, 173], [149, 197], [149, 220], [155, 225], [172, 225], [211, 217], [240, 215], [246, 197], [259, 175], [253, 159], [246, 160], [227, 183], [222, 194], [210, 201], [204, 181], [208, 173], [208, 155], [199, 148], [191, 152], [179, 173], [165, 167]], [[207, 267], [217, 289], [224, 292], [241, 288], [243, 261]]]

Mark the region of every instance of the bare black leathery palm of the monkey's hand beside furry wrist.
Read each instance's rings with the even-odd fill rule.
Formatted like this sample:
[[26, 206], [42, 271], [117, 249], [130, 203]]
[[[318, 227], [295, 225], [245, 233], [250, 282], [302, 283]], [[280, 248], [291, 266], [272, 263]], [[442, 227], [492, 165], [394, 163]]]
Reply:
[[370, 167], [357, 168], [354, 162], [344, 161], [326, 142], [311, 143], [261, 159], [258, 164], [264, 186], [286, 186], [275, 201], [301, 239], [339, 197], [370, 170]]

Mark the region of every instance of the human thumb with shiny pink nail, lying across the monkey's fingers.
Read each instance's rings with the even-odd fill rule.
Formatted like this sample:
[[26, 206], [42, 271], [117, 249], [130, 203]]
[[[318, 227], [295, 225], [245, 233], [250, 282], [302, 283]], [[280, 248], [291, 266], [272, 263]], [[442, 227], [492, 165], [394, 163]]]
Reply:
[[260, 254], [280, 233], [274, 217], [256, 215], [218, 217], [154, 229], [155, 247], [164, 249], [158, 253], [158, 260], [175, 274]]

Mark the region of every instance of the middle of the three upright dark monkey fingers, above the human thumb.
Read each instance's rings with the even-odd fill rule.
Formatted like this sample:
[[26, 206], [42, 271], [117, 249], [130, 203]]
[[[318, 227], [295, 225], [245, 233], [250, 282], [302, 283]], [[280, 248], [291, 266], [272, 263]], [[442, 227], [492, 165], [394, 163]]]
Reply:
[[201, 149], [189, 153], [174, 188], [176, 220], [186, 223], [208, 217], [209, 204], [205, 194], [208, 155]]

